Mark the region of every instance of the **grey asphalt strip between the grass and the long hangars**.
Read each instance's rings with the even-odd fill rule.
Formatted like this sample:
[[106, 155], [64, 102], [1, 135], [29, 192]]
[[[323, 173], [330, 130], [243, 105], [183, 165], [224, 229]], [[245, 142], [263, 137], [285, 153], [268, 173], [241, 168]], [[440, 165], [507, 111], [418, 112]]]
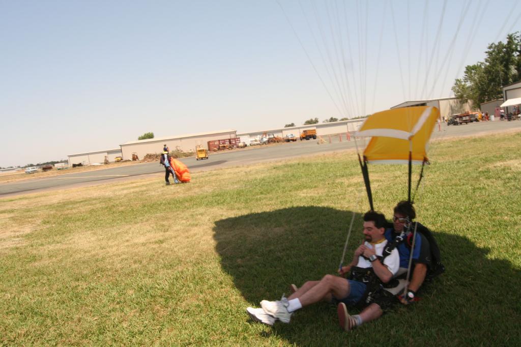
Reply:
[[[478, 122], [461, 126], [436, 126], [431, 139], [460, 137], [474, 134], [503, 132], [510, 129], [521, 130], [521, 121], [494, 121]], [[326, 143], [317, 144], [317, 140], [296, 141], [278, 145], [258, 146], [245, 150], [222, 153], [210, 153], [205, 160], [195, 158], [181, 159], [191, 172], [214, 170], [217, 168], [248, 165], [254, 163], [278, 161], [304, 155], [338, 152], [355, 148], [355, 142], [346, 141], [345, 134], [342, 141], [338, 137], [323, 137]], [[358, 141], [359, 146], [363, 143]], [[0, 196], [17, 195], [49, 189], [63, 189], [79, 185], [94, 185], [106, 183], [110, 180], [135, 179], [148, 175], [162, 176], [165, 169], [159, 163], [142, 163], [96, 171], [69, 173], [53, 177], [35, 178], [13, 183], [0, 184]]]

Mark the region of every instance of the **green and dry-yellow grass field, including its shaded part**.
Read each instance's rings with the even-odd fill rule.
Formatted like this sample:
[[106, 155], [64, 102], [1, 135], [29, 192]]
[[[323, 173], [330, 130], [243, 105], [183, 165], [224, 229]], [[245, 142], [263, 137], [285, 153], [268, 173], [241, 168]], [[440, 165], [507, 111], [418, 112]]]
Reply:
[[[354, 152], [0, 199], [0, 345], [520, 345], [520, 150], [521, 133], [431, 145], [416, 208], [446, 272], [351, 333], [325, 303], [274, 328], [245, 308], [334, 273], [354, 210], [351, 258]], [[370, 167], [388, 217], [405, 172]]]

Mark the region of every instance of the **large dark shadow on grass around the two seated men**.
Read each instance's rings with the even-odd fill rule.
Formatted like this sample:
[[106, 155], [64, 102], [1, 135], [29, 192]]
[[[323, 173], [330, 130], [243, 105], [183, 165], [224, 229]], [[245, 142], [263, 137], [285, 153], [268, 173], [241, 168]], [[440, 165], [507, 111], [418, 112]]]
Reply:
[[[305, 206], [219, 220], [214, 238], [222, 269], [251, 305], [277, 300], [283, 292], [289, 295], [290, 283], [300, 286], [336, 272], [351, 216], [352, 212]], [[351, 261], [363, 240], [362, 216], [355, 218], [344, 263]], [[519, 270], [510, 262], [488, 259], [488, 250], [466, 238], [439, 231], [436, 237], [447, 270], [420, 291], [423, 299], [414, 306], [399, 306], [347, 334], [338, 327], [336, 308], [320, 303], [297, 312], [291, 324], [267, 327], [262, 337], [276, 333], [297, 345], [521, 342]], [[248, 320], [246, 313], [244, 319]]]

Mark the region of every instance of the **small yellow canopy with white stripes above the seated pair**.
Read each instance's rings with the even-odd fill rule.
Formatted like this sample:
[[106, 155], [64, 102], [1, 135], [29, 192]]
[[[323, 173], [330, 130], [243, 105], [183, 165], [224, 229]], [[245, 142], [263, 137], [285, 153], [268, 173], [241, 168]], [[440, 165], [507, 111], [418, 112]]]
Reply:
[[412, 163], [427, 161], [427, 142], [440, 117], [432, 106], [394, 108], [369, 116], [357, 137], [371, 137], [364, 151], [368, 163], [405, 164], [412, 149]]

